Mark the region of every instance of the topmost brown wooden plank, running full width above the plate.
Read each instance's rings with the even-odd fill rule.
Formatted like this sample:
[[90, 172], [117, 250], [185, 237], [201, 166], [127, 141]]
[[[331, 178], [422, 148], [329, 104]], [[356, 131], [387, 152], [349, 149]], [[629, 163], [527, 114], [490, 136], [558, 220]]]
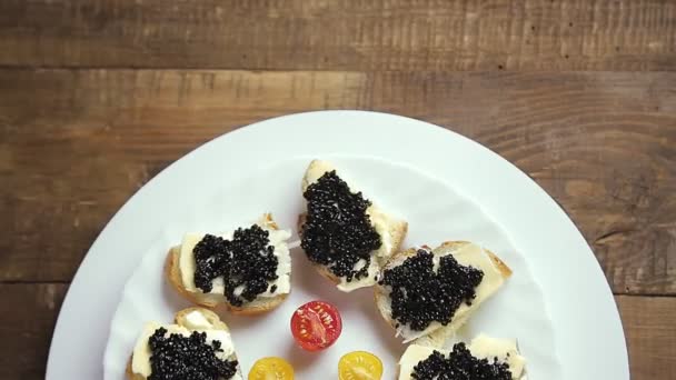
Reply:
[[0, 66], [674, 70], [668, 0], [4, 0]]

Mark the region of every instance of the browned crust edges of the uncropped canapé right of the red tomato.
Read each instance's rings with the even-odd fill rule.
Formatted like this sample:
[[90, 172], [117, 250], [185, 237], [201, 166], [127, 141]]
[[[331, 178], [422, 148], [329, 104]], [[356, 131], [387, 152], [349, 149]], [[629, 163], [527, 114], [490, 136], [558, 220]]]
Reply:
[[[454, 249], [455, 250], [455, 249], [459, 249], [459, 248], [461, 248], [464, 246], [467, 246], [467, 244], [471, 244], [471, 242], [469, 242], [469, 241], [446, 241], [446, 242], [441, 243], [439, 247], [437, 247], [435, 249], [430, 249], [427, 246], [422, 246], [422, 248], [431, 250], [433, 253], [435, 253], [435, 254], [439, 254], [440, 251], [446, 251], [447, 249]], [[387, 262], [387, 264], [384, 268], [384, 271], [399, 266], [407, 258], [416, 256], [417, 251], [418, 251], [418, 249], [416, 249], [416, 248], [409, 248], [407, 250], [404, 250], [404, 251], [400, 251], [400, 252], [396, 253]], [[484, 248], [484, 251], [490, 258], [490, 261], [493, 262], [493, 264], [495, 266], [495, 268], [498, 270], [498, 272], [500, 273], [500, 276], [503, 277], [503, 279], [506, 280], [507, 278], [509, 278], [511, 276], [511, 269], [509, 269], [509, 267], [507, 267], [507, 264], [503, 260], [500, 260], [500, 258], [498, 258], [497, 254], [495, 254], [494, 252], [491, 252], [490, 250], [485, 249], [485, 248]], [[392, 328], [394, 330], [396, 330], [397, 329], [396, 328], [396, 321], [392, 320], [391, 314], [388, 311], [389, 299], [388, 299], [387, 290], [385, 289], [385, 287], [382, 287], [380, 284], [377, 284], [375, 287], [375, 289], [374, 289], [374, 297], [375, 297], [375, 300], [376, 300], [376, 307], [378, 308], [378, 311], [380, 312], [380, 316], [382, 316], [382, 319], [387, 322], [387, 324], [390, 328]], [[455, 331], [449, 331], [448, 330], [449, 328], [450, 328], [450, 323], [448, 326], [441, 327], [440, 329], [437, 329], [437, 330], [444, 330], [444, 329], [446, 329], [445, 334], [454, 333]], [[430, 331], [427, 336], [433, 334], [437, 330]], [[420, 337], [420, 338], [425, 338], [427, 336], [424, 336], [424, 337]], [[418, 338], [418, 339], [420, 339], [420, 338]]]

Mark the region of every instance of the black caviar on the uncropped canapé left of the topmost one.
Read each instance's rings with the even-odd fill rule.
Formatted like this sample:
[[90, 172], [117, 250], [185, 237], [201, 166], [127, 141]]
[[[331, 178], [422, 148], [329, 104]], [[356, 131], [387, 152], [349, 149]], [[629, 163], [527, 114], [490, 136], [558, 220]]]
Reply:
[[[242, 306], [268, 289], [268, 281], [278, 278], [279, 260], [275, 246], [269, 246], [269, 232], [257, 224], [235, 231], [232, 240], [207, 234], [195, 249], [195, 286], [210, 292], [211, 281], [223, 277], [225, 296], [233, 306]], [[241, 294], [235, 289], [243, 286]]]

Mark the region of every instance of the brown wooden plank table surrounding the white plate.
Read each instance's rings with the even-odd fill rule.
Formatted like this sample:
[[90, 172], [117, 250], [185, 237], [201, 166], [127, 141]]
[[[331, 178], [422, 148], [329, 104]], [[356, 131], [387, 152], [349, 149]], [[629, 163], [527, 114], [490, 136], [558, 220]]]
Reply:
[[44, 376], [78, 264], [159, 170], [254, 121], [368, 109], [531, 176], [604, 269], [633, 379], [676, 379], [675, 71], [668, 0], [3, 0], [0, 378]]

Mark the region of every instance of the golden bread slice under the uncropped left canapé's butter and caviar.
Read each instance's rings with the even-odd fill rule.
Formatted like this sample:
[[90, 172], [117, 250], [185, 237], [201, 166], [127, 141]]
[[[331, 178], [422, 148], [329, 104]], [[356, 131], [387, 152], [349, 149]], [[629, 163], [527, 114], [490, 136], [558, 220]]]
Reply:
[[[269, 213], [264, 214], [258, 224], [271, 230], [279, 230], [279, 227]], [[193, 289], [191, 291], [186, 287], [181, 276], [180, 254], [181, 246], [172, 247], [169, 250], [165, 261], [165, 276], [171, 287], [192, 303], [217, 309], [218, 311], [229, 311], [233, 314], [252, 316], [277, 308], [289, 296], [289, 293], [279, 293], [276, 297], [258, 297], [254, 301], [243, 303], [242, 306], [233, 306], [228, 302], [223, 294], [205, 293], [200, 289]], [[285, 254], [290, 254], [288, 249]]]

